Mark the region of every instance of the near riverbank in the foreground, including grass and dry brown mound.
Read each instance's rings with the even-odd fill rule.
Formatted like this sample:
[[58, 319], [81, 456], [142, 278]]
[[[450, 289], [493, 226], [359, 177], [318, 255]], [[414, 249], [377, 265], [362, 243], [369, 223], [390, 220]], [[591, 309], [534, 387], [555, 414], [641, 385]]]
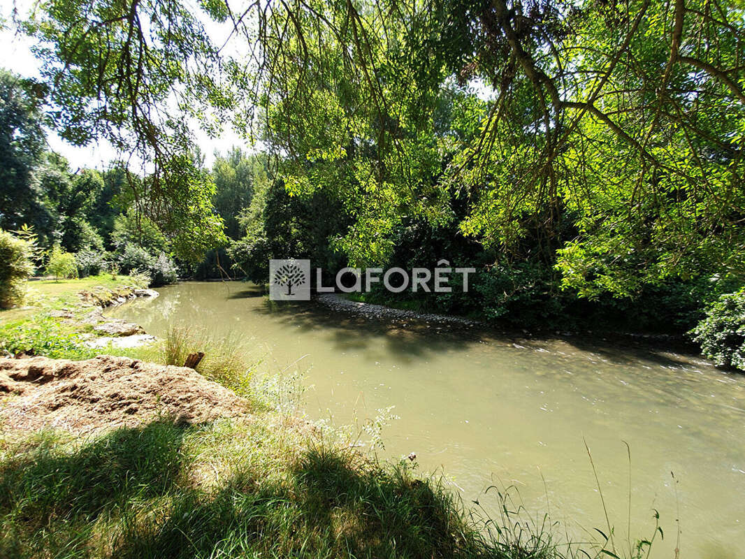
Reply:
[[[56, 300], [67, 306], [47, 302], [45, 315], [80, 312], [69, 293]], [[77, 359], [78, 333], [34, 352]], [[190, 343], [200, 341], [169, 335], [151, 355], [179, 359]], [[418, 479], [414, 458], [388, 464], [332, 437], [288, 411], [287, 387], [249, 382], [253, 365], [235, 356], [222, 368], [213, 356], [206, 370], [243, 379], [233, 396], [192, 370], [138, 359], [0, 361], [2, 557], [574, 556], [541, 529], [527, 540], [510, 522], [490, 531], [436, 479]], [[198, 413], [184, 397], [195, 390]], [[209, 394], [223, 397], [211, 406]]]

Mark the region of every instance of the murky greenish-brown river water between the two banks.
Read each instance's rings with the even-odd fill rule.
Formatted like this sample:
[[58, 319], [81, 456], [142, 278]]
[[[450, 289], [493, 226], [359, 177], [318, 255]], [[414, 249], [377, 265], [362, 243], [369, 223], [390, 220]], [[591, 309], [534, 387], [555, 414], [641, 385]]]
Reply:
[[745, 557], [743, 375], [649, 346], [276, 305], [250, 284], [158, 291], [109, 314], [155, 335], [203, 327], [249, 344], [264, 370], [307, 369], [315, 419], [361, 422], [395, 406], [379, 453], [415, 452], [419, 471], [443, 474], [466, 504], [493, 514], [498, 501], [484, 490], [513, 487], [533, 520], [548, 513], [562, 537], [597, 540], [593, 528], [608, 531], [601, 491], [618, 549], [629, 524], [632, 539], [652, 535], [656, 510], [665, 538], [651, 557], [673, 558], [678, 541], [681, 558]]

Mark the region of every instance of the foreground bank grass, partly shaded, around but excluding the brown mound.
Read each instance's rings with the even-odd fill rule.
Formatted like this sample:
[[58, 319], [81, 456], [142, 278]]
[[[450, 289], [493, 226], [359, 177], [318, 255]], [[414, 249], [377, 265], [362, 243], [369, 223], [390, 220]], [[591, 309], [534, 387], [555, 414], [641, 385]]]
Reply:
[[[37, 315], [48, 315], [62, 301], [71, 309], [80, 288], [80, 282], [54, 285]], [[68, 326], [65, 319], [49, 320], [61, 330]], [[34, 327], [30, 319], [16, 322], [22, 329]], [[2, 331], [8, 335], [4, 326]], [[196, 348], [207, 353], [201, 372], [238, 391], [249, 414], [201, 425], [153, 417], [95, 436], [2, 432], [0, 557], [580, 555], [551, 543], [550, 522], [535, 527], [520, 521], [509, 505], [506, 517], [484, 522], [437, 479], [417, 478], [408, 459], [378, 461], [349, 445], [358, 433], [332, 435], [299, 419], [297, 405], [287, 405], [297, 398], [297, 387], [256, 382], [255, 364], [235, 346], [174, 330], [155, 348], [126, 353], [145, 351], [140, 356], [168, 364]], [[45, 353], [47, 347], [36, 349]], [[83, 356], [77, 345], [53, 350], [57, 356]], [[614, 556], [604, 553], [609, 549], [588, 552]]]

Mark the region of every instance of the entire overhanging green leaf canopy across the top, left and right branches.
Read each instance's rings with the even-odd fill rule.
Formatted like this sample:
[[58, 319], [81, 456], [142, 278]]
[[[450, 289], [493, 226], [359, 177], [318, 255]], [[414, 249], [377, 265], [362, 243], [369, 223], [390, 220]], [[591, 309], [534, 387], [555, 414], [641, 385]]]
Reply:
[[337, 200], [327, 240], [355, 264], [386, 262], [422, 220], [494, 262], [555, 266], [583, 297], [744, 273], [741, 2], [200, 9], [52, 0], [23, 23], [48, 116], [151, 162], [133, 200], [184, 256], [225, 242], [225, 200], [191, 156], [198, 121], [261, 139], [291, 197]]

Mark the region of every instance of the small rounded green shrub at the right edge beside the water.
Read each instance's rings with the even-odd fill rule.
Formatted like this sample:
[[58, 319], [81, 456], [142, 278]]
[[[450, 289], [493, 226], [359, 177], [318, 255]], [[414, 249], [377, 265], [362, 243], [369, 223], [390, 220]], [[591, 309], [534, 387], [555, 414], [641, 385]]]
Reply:
[[745, 370], [745, 288], [719, 297], [692, 333], [717, 367]]

